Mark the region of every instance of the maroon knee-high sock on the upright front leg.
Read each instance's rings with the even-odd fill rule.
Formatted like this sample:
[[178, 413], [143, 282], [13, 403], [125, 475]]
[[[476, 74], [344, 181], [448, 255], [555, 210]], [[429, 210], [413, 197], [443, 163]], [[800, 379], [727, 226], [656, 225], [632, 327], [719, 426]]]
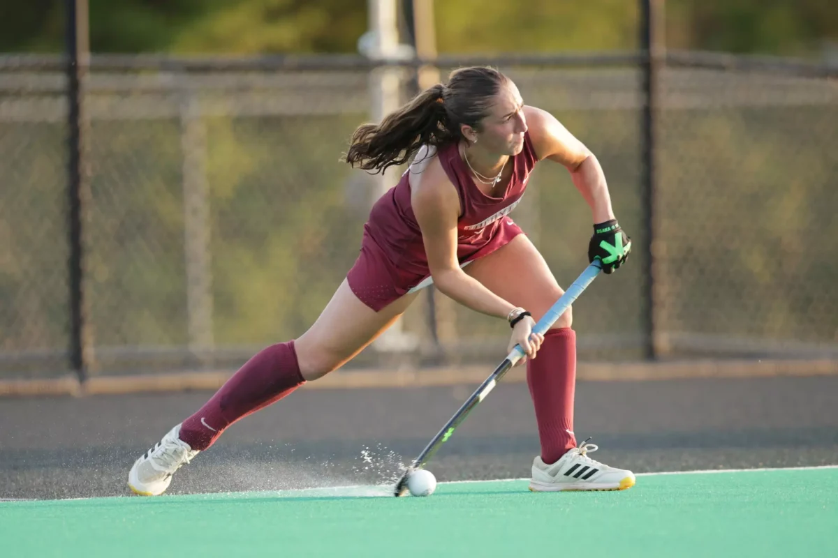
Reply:
[[569, 327], [547, 330], [535, 359], [528, 359], [526, 382], [535, 407], [541, 459], [556, 463], [577, 445], [573, 434], [576, 391], [576, 332]]

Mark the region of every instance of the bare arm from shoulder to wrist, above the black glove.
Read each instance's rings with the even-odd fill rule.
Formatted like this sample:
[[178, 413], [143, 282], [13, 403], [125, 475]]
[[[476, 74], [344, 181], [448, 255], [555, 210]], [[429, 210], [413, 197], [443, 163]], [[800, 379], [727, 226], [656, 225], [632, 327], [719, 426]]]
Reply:
[[546, 110], [525, 106], [524, 115], [539, 160], [549, 159], [566, 167], [573, 185], [591, 207], [594, 223], [613, 219], [608, 182], [597, 157]]

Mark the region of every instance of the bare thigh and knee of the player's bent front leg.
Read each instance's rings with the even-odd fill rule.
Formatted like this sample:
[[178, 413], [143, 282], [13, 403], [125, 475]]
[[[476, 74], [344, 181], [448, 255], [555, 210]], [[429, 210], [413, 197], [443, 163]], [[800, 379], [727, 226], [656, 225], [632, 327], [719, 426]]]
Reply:
[[[564, 294], [544, 257], [525, 234], [463, 270], [500, 298], [529, 310], [536, 321]], [[568, 308], [552, 329], [571, 325], [572, 309]]]

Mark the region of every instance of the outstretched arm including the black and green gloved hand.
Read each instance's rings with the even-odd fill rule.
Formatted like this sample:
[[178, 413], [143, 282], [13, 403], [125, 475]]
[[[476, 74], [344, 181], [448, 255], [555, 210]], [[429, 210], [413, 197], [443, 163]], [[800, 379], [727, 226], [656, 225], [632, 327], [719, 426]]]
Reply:
[[623, 232], [614, 216], [603, 167], [555, 116], [533, 106], [526, 106], [524, 114], [538, 158], [565, 166], [573, 185], [591, 207], [593, 235], [588, 243], [588, 261], [599, 259], [603, 271], [613, 273], [629, 257], [631, 238]]

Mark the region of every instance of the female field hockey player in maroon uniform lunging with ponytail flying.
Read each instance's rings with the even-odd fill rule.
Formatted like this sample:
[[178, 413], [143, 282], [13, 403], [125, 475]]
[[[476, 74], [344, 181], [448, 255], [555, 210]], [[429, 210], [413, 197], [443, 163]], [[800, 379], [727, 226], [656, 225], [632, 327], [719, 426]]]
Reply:
[[[611, 274], [631, 243], [619, 227], [595, 156], [550, 114], [524, 105], [495, 69], [455, 70], [379, 125], [354, 132], [346, 161], [384, 171], [411, 161], [380, 197], [364, 227], [360, 256], [314, 324], [297, 339], [251, 357], [191, 417], [137, 459], [136, 494], [163, 494], [184, 463], [226, 427], [337, 370], [390, 326], [433, 283], [461, 305], [511, 326], [507, 352], [526, 354], [541, 455], [533, 490], [616, 490], [631, 471], [588, 457], [573, 433], [576, 334], [571, 310], [545, 335], [532, 332], [563, 293], [541, 253], [509, 217], [539, 161], [566, 167], [592, 211], [588, 259]], [[537, 358], [536, 358], [537, 355]]]

